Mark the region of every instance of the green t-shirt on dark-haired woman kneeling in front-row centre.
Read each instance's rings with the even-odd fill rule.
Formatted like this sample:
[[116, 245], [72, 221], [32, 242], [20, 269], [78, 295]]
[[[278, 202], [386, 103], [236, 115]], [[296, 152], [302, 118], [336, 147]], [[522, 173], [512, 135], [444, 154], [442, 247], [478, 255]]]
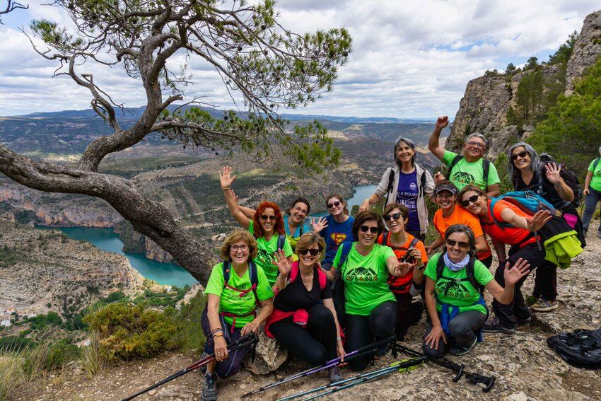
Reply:
[[360, 255], [355, 249], [356, 243], [344, 243], [338, 248], [332, 261], [332, 267], [338, 268], [343, 246], [351, 245], [351, 252], [341, 267], [344, 279], [344, 305], [349, 315], [369, 316], [372, 310], [385, 301], [396, 301], [388, 286], [388, 267], [386, 260], [395, 252], [390, 247], [373, 245], [367, 256]]

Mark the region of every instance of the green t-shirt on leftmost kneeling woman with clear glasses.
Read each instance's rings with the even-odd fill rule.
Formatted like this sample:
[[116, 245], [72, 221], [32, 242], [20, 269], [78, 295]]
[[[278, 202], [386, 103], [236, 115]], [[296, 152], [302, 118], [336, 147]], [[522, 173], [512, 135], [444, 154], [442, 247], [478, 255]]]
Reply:
[[[240, 290], [250, 289], [250, 273], [248, 270], [249, 269], [246, 269], [243, 277], [239, 277], [235, 270], [231, 268], [228, 285]], [[265, 272], [263, 272], [263, 269], [259, 266], [257, 266], [257, 279], [259, 280], [259, 283], [257, 284], [256, 291], [259, 301], [265, 301], [266, 299], [272, 298], [274, 296], [272, 286], [269, 284], [269, 281], [267, 281]], [[248, 291], [244, 296], [240, 296], [240, 291], [228, 289], [223, 285], [223, 263], [218, 263], [211, 271], [211, 277], [209, 277], [209, 281], [206, 283], [204, 294], [214, 294], [221, 297], [221, 300], [219, 301], [220, 312], [245, 315], [252, 312], [252, 310], [255, 310], [255, 294], [252, 291]], [[225, 319], [228, 324], [233, 324], [233, 318], [223, 316], [223, 319]], [[243, 327], [246, 323], [252, 322], [253, 319], [254, 317], [252, 315], [236, 318], [236, 327]]]

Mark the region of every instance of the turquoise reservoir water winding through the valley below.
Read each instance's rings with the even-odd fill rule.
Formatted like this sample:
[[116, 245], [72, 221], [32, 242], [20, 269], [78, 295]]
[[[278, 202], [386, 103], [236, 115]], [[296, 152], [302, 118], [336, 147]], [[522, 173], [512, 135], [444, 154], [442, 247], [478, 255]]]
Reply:
[[[359, 185], [354, 187], [353, 197], [348, 199], [349, 211], [356, 204], [361, 204], [363, 199], [369, 197], [375, 191], [375, 185]], [[325, 199], [321, 199], [325, 202]], [[327, 216], [327, 211], [311, 214], [311, 216]], [[40, 227], [42, 228], [42, 227]], [[43, 227], [46, 228], [46, 227]], [[158, 284], [183, 287], [186, 284], [196, 284], [198, 281], [192, 277], [183, 267], [175, 263], [161, 263], [147, 259], [140, 253], [124, 253], [123, 243], [112, 228], [95, 227], [52, 227], [52, 230], [60, 230], [74, 240], [83, 240], [95, 245], [101, 250], [119, 253], [129, 260], [129, 263], [146, 279], [151, 279]], [[310, 227], [307, 228], [310, 230]]]

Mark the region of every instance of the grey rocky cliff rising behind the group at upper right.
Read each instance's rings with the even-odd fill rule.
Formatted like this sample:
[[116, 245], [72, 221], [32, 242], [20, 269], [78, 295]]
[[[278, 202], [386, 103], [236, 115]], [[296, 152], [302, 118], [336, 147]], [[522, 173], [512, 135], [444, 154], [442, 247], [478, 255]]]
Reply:
[[[580, 78], [585, 69], [601, 55], [601, 11], [591, 13], [585, 18], [573, 53], [568, 60], [565, 79], [566, 94], [573, 89], [573, 83]], [[563, 66], [542, 67], [544, 81], [555, 81]], [[532, 134], [534, 127], [508, 125], [507, 111], [516, 108], [518, 85], [529, 74], [521, 72], [508, 76], [480, 76], [467, 83], [465, 95], [460, 101], [459, 110], [446, 142], [446, 149], [459, 151], [467, 135], [479, 132], [489, 140], [486, 156], [496, 159], [499, 152], [505, 151], [510, 142], [525, 139]]]

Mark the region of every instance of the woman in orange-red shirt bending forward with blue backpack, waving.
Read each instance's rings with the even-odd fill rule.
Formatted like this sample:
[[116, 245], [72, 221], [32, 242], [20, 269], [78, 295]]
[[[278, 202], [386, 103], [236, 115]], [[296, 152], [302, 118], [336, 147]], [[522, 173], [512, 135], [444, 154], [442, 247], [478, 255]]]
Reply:
[[[540, 238], [535, 231], [539, 231], [552, 218], [549, 211], [537, 211], [534, 216], [530, 216], [503, 199], [497, 200], [491, 210], [491, 199], [480, 187], [471, 184], [461, 190], [459, 199], [467, 211], [480, 219], [484, 232], [492, 240], [498, 257], [494, 275], [498, 284], [505, 285], [506, 262], [514, 266], [520, 259], [527, 260], [532, 270], [544, 264], [546, 252], [540, 246]], [[505, 252], [506, 244], [511, 246], [508, 257]], [[516, 325], [530, 321], [530, 309], [520, 291], [524, 281], [525, 277], [515, 284], [515, 296], [507, 305], [493, 300], [495, 317], [484, 325], [485, 332], [513, 334]]]

